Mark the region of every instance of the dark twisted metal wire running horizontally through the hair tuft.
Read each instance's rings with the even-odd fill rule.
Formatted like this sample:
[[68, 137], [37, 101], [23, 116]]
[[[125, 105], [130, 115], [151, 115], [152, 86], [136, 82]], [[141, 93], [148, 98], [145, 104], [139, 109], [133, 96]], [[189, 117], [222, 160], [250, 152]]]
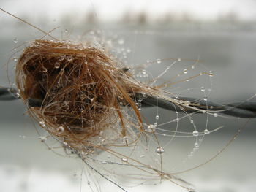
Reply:
[[[0, 88], [0, 101], [19, 99], [17, 96], [18, 91], [15, 88]], [[141, 93], [135, 93], [137, 98]], [[256, 102], [244, 101], [230, 104], [217, 104], [213, 101], [205, 101], [203, 99], [195, 99], [192, 97], [179, 96], [173, 98], [178, 101], [189, 101], [189, 105], [184, 107], [179, 106], [175, 102], [168, 101], [166, 99], [157, 98], [155, 96], [143, 96], [141, 104], [144, 107], [160, 107], [165, 110], [187, 113], [203, 113], [203, 110], [207, 112], [220, 112], [225, 115], [230, 115], [238, 118], [256, 118]], [[40, 107], [42, 100], [40, 99], [28, 99], [29, 107]]]

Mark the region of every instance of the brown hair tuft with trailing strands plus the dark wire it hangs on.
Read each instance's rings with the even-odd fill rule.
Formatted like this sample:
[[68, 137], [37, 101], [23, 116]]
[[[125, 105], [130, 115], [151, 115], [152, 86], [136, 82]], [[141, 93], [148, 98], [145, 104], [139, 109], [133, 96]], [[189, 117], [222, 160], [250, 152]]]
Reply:
[[[124, 161], [129, 161], [129, 166], [146, 174], [157, 175], [173, 183], [178, 180], [189, 190], [189, 183], [163, 172], [162, 158], [161, 166], [157, 168], [110, 149], [135, 148], [142, 138], [152, 135], [157, 140], [154, 130], [148, 130], [137, 101], [143, 107], [157, 106], [186, 113], [221, 112], [241, 118], [256, 118], [256, 104], [249, 101], [222, 105], [189, 97], [173, 98], [173, 94], [162, 91], [161, 86], [136, 80], [129, 68], [108, 49], [100, 49], [90, 43], [59, 41], [56, 38], [35, 40], [21, 53], [15, 74], [18, 91], [0, 88], [0, 100], [22, 99], [29, 115], [39, 126], [83, 161], [106, 151], [119, 159], [125, 157]], [[159, 149], [162, 149], [160, 145]]]

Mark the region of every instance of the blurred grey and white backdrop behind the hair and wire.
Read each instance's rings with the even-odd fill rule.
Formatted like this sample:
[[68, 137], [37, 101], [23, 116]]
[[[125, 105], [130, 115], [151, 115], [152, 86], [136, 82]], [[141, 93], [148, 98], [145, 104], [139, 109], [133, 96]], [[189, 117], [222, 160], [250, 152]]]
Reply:
[[[116, 41], [118, 49], [129, 50], [123, 58], [129, 66], [159, 58], [181, 58], [181, 64], [167, 72], [166, 80], [195, 62], [187, 64], [182, 62], [184, 59], [200, 59], [202, 65], [198, 70], [214, 73], [211, 81], [200, 77], [187, 84], [181, 83], [178, 85], [181, 92], [174, 89], [177, 94], [202, 98], [198, 88], [204, 86], [211, 88], [209, 100], [230, 103], [245, 101], [256, 93], [256, 1], [1, 0], [0, 5], [45, 31], [60, 26], [52, 34], [61, 39], [76, 40], [88, 31], [99, 30], [100, 36]], [[43, 34], [4, 12], [0, 12], [0, 23], [0, 85], [10, 86], [14, 82], [15, 58], [23, 43], [39, 39]], [[15, 52], [18, 54], [12, 55]], [[157, 77], [168, 65], [170, 62], [154, 65], [148, 72]], [[197, 88], [197, 91], [190, 95], [187, 88]], [[145, 110], [145, 113], [149, 118], [156, 115], [154, 110]], [[162, 122], [168, 120], [165, 110], [160, 110], [159, 114]], [[202, 131], [206, 118], [198, 115], [194, 120]], [[208, 129], [225, 127], [207, 136], [195, 158], [187, 162], [187, 168], [216, 154], [245, 122], [237, 118], [210, 119]], [[189, 123], [182, 126], [189, 127]], [[255, 191], [255, 137], [255, 120], [250, 120], [238, 139], [218, 158], [180, 177], [193, 183], [197, 191]], [[189, 153], [190, 149], [185, 149], [189, 143], [177, 143], [170, 158]], [[81, 180], [80, 176], [84, 164], [75, 158], [60, 157], [42, 145], [20, 101], [0, 101], [0, 150], [3, 191], [89, 190], [84, 186], [86, 179]], [[102, 191], [121, 191], [98, 179]], [[140, 185], [127, 190], [184, 191], [176, 185], [170, 188], [165, 184]]]

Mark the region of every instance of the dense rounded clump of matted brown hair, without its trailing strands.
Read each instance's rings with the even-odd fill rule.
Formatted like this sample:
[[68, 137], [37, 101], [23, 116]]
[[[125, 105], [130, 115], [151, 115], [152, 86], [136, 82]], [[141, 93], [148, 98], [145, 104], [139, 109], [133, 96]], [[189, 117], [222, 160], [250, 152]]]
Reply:
[[136, 137], [143, 132], [134, 93], [145, 88], [121, 62], [95, 47], [35, 40], [18, 60], [16, 84], [23, 101], [41, 101], [29, 107], [29, 114], [77, 153], [93, 153], [95, 147], [103, 149], [131, 136], [125, 106], [136, 116]]

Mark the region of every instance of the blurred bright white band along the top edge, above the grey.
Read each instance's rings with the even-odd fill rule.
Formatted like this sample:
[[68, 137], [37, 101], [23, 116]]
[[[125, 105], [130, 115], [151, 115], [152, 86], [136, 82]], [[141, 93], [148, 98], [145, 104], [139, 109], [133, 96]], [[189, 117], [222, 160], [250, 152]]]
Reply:
[[199, 20], [214, 20], [219, 15], [236, 12], [241, 20], [256, 20], [255, 0], [1, 0], [1, 8], [16, 15], [47, 12], [50, 18], [94, 10], [103, 21], [117, 20], [125, 12], [146, 12], [153, 19], [167, 12], [187, 13]]

